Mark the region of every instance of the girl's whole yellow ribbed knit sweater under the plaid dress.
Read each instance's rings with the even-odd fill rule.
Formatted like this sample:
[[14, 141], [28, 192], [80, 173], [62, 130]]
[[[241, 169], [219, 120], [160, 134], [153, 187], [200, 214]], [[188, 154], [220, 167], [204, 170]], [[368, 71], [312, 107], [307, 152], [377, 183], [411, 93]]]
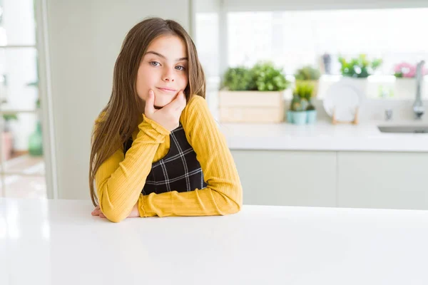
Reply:
[[152, 162], [161, 160], [170, 147], [170, 132], [142, 115], [126, 158], [119, 149], [96, 172], [100, 208], [112, 222], [126, 219], [137, 202], [141, 217], [208, 216], [240, 211], [243, 192], [238, 171], [205, 99], [193, 96], [180, 116], [180, 123], [196, 152], [208, 187], [190, 192], [141, 194]]

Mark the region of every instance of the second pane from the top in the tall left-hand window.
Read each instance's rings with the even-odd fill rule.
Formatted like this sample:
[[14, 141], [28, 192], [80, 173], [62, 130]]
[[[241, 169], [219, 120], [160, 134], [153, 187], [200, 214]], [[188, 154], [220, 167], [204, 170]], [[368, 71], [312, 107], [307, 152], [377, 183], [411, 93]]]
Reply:
[[36, 48], [0, 48], [1, 110], [34, 110], [38, 98]]

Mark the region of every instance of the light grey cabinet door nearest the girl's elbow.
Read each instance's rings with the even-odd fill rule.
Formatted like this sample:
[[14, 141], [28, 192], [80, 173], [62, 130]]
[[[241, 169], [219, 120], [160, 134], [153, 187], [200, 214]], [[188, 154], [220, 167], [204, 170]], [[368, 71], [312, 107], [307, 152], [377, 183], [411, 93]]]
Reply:
[[336, 206], [335, 152], [233, 150], [244, 204]]

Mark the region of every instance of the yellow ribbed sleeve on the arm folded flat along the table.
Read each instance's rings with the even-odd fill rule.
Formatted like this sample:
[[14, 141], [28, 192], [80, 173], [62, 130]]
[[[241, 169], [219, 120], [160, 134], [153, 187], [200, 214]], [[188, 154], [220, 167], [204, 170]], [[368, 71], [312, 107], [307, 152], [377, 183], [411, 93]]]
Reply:
[[238, 171], [205, 99], [195, 95], [183, 110], [181, 120], [208, 187], [190, 192], [141, 195], [140, 216], [208, 216], [240, 211], [243, 190]]

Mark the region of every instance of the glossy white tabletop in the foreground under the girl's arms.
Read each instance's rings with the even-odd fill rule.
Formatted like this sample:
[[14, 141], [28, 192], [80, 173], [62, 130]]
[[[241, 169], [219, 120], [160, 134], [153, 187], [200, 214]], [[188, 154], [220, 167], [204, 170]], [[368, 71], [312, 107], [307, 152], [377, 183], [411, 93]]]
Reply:
[[92, 217], [0, 199], [0, 284], [428, 284], [428, 211], [244, 206], [225, 217]]

